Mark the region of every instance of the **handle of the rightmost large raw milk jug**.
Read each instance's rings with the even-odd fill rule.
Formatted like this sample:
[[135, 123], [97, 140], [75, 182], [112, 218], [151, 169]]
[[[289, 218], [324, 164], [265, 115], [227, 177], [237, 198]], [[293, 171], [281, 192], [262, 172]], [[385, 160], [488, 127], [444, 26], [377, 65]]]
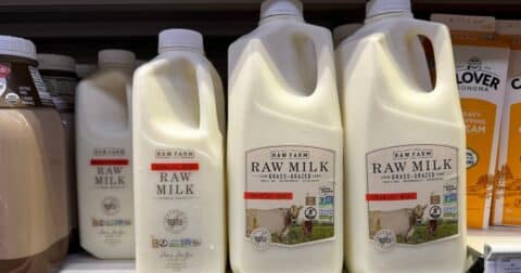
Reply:
[[[457, 90], [453, 47], [447, 27], [442, 24], [421, 21], [410, 27], [409, 36], [414, 36], [415, 39], [418, 35], [424, 36], [432, 43], [436, 72], [433, 92], [443, 93]], [[457, 92], [455, 94], [457, 95]]]

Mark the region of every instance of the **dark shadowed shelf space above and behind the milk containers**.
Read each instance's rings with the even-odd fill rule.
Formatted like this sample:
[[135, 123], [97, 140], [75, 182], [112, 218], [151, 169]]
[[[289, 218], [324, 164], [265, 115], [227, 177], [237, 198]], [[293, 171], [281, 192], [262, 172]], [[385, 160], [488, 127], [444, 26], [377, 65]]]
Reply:
[[[224, 76], [228, 46], [251, 31], [260, 0], [0, 0], [0, 34], [31, 39], [38, 52], [96, 63], [106, 48], [128, 49], [138, 58], [156, 54], [157, 34], [191, 28], [205, 37], [208, 58]], [[332, 29], [361, 22], [365, 0], [304, 0], [307, 22]], [[521, 18], [518, 0], [414, 0], [416, 17], [431, 13]]]

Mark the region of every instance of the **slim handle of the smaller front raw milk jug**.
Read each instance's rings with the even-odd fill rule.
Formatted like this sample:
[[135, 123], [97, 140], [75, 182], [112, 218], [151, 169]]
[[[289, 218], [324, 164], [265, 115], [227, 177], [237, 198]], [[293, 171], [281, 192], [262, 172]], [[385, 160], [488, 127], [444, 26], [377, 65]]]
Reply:
[[199, 91], [200, 129], [208, 132], [219, 131], [215, 87], [212, 75], [206, 67], [198, 64], [194, 65]]

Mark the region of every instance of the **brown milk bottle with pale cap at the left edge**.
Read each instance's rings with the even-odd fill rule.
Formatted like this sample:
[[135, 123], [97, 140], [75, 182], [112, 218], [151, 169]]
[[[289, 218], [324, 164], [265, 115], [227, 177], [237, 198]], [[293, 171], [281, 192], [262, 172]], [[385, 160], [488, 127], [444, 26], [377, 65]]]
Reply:
[[36, 58], [0, 36], [0, 272], [50, 273], [67, 253], [65, 132]]

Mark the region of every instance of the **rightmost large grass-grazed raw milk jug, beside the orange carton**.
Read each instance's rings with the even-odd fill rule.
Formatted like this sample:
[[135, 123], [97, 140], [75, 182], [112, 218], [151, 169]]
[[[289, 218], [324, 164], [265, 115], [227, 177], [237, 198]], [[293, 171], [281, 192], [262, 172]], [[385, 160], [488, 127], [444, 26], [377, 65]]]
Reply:
[[[415, 73], [418, 36], [432, 43], [432, 90]], [[370, 1], [336, 58], [350, 272], [463, 272], [465, 125], [447, 28], [414, 20], [409, 0]]]

